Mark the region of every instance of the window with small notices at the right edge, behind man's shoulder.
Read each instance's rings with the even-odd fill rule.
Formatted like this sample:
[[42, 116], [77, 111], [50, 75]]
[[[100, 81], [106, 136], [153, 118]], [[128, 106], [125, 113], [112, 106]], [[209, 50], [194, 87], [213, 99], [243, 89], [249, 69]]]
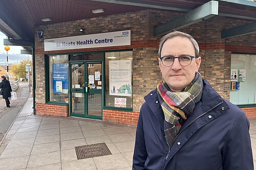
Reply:
[[236, 105], [256, 104], [255, 75], [256, 55], [231, 55], [230, 102]]

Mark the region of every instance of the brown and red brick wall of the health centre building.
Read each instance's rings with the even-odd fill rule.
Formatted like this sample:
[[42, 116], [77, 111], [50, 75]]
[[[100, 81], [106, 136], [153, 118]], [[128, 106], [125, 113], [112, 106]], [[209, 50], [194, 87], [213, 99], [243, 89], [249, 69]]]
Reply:
[[[151, 90], [155, 89], [157, 83], [161, 80], [157, 59], [159, 37], [154, 37], [154, 28], [155, 26], [172, 20], [181, 14], [182, 12], [143, 10], [110, 15], [108, 17], [82, 19], [38, 27], [35, 30], [37, 114], [51, 113], [49, 110], [46, 110], [44, 105], [46, 101], [44, 56], [46, 54], [68, 54], [133, 49], [134, 111], [123, 112], [103, 109], [103, 121], [135, 125], [138, 118], [138, 112], [144, 102], [143, 97]], [[215, 16], [180, 30], [189, 33], [199, 42], [200, 56], [202, 57], [202, 63], [199, 71], [203, 78], [208, 80], [212, 87], [214, 87], [214, 89], [227, 100], [229, 100], [231, 52], [239, 51], [256, 53], [256, 34], [230, 39], [221, 39], [221, 31], [223, 29], [243, 25], [247, 22], [249, 21]], [[131, 45], [52, 52], [44, 51], [44, 39], [83, 35], [78, 31], [78, 28], [84, 28], [84, 34], [131, 30]], [[43, 39], [37, 37], [37, 30], [44, 31]], [[63, 106], [60, 107], [63, 108]], [[65, 116], [66, 112], [62, 115]]]

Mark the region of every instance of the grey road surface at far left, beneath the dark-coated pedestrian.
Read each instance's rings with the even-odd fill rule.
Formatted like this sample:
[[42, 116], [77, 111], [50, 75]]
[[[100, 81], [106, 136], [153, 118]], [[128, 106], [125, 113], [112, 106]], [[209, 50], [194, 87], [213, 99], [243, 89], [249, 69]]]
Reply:
[[16, 118], [19, 111], [26, 103], [29, 96], [28, 82], [20, 82], [20, 86], [16, 90], [17, 100], [10, 101], [11, 107], [7, 108], [5, 99], [0, 98], [0, 141], [3, 139], [5, 133], [12, 125], [13, 120]]

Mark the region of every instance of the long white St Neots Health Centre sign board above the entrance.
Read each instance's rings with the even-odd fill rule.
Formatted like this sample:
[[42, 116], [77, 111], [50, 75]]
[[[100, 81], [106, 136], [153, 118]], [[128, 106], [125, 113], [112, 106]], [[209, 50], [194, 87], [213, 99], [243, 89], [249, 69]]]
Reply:
[[45, 39], [45, 51], [131, 45], [131, 30]]

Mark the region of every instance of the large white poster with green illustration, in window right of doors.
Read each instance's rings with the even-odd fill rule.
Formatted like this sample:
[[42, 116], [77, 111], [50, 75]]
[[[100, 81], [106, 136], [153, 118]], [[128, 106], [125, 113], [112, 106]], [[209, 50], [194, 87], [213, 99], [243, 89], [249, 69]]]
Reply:
[[109, 61], [110, 95], [132, 96], [132, 61]]

